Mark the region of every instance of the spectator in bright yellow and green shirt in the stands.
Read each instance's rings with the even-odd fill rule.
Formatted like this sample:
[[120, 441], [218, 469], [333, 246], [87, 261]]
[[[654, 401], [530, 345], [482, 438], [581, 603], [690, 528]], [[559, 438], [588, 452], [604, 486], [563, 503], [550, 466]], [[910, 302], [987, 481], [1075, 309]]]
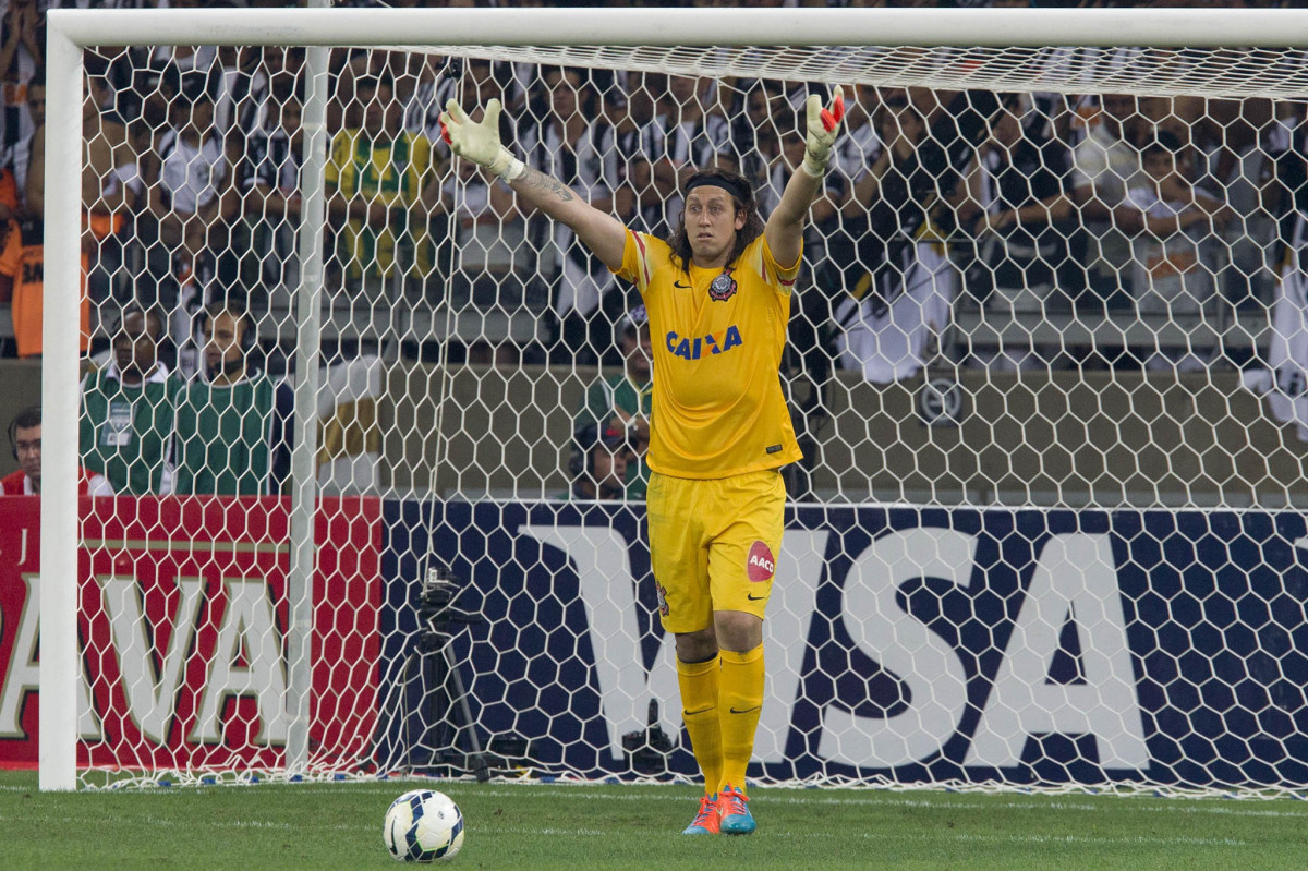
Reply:
[[404, 131], [390, 78], [364, 75], [353, 82], [347, 116], [356, 110], [361, 126], [332, 137], [327, 212], [343, 231], [337, 254], [348, 277], [377, 293], [392, 276], [430, 273], [426, 226], [439, 201], [439, 173], [426, 136]]

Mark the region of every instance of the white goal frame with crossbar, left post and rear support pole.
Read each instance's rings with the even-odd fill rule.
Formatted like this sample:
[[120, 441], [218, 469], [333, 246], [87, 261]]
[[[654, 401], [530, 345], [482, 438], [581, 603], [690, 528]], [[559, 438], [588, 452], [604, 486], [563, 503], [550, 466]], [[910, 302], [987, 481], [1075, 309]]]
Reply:
[[[596, 37], [596, 34], [603, 34]], [[114, 44], [307, 46], [309, 69], [326, 71], [328, 46], [1118, 46], [1308, 47], [1308, 10], [1283, 9], [199, 9], [51, 10], [47, 17], [46, 272], [42, 403], [52, 433], [76, 433], [77, 306], [82, 50]], [[1075, 34], [1069, 39], [1069, 34]], [[812, 77], [812, 76], [806, 76]], [[820, 77], [820, 76], [818, 76]], [[306, 220], [296, 292], [298, 365], [290, 540], [288, 687], [292, 698], [286, 770], [307, 757], [309, 578], [314, 569], [310, 514], [317, 497], [310, 409], [317, 387], [326, 154], [326, 85], [305, 107]], [[317, 107], [317, 111], [315, 111]], [[317, 173], [317, 175], [315, 175]], [[318, 222], [314, 222], [317, 216]], [[305, 398], [301, 401], [301, 396]], [[41, 506], [39, 786], [77, 783], [77, 446], [46, 439]]]

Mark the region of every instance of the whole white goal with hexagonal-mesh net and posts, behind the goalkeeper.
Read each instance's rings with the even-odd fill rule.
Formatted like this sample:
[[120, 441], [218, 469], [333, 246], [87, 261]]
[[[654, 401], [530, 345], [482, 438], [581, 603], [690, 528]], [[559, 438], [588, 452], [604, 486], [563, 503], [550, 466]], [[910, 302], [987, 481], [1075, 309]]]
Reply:
[[[650, 336], [634, 288], [451, 160], [438, 112], [501, 99], [521, 160], [663, 235], [695, 166], [768, 213], [803, 99], [838, 84], [751, 778], [1301, 791], [1292, 29], [963, 14], [974, 41], [939, 46], [892, 10], [657, 12], [51, 13], [24, 190], [64, 437], [52, 497], [0, 505], [13, 759], [38, 759], [39, 685], [64, 789], [692, 778], [649, 373], [731, 337]], [[687, 47], [705, 27], [752, 47]], [[10, 225], [24, 256], [39, 228]], [[13, 539], [38, 511], [39, 557]]]

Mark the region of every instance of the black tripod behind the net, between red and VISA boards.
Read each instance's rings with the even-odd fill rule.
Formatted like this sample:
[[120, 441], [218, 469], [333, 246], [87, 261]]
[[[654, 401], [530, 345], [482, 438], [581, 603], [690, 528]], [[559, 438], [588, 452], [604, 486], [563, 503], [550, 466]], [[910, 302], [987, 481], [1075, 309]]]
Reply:
[[[378, 734], [374, 742], [377, 752], [374, 756], [382, 761], [383, 770], [392, 768], [392, 762], [399, 761], [396, 759], [399, 756], [403, 757], [404, 766], [407, 768], [417, 768], [422, 764], [447, 765], [472, 772], [479, 782], [484, 783], [490, 779], [490, 766], [487, 762], [481, 742], [477, 738], [476, 725], [472, 721], [472, 709], [468, 705], [467, 688], [463, 684], [463, 676], [459, 674], [458, 663], [454, 660], [453, 650], [454, 633], [456, 632], [453, 626], [455, 624], [471, 625], [479, 623], [481, 617], [475, 613], [459, 611], [453, 606], [458, 591], [458, 578], [455, 578], [447, 566], [437, 565], [428, 568], [417, 606], [419, 619], [424, 620], [428, 628], [419, 636], [417, 643], [404, 658], [395, 683], [391, 685], [382, 705], [382, 718], [377, 725]], [[430, 757], [421, 762], [415, 760], [413, 756], [415, 749], [421, 745], [422, 734], [417, 736], [419, 742], [409, 740], [411, 717], [405, 705], [407, 688], [413, 677], [415, 664], [420, 664], [422, 668], [420, 672], [422, 677], [420, 692], [429, 705], [428, 713], [430, 717], [425, 719], [425, 723], [438, 723], [434, 734], [437, 738], [436, 747], [439, 749], [434, 749]], [[386, 732], [387, 723], [390, 722], [386, 714], [392, 709], [392, 701], [396, 694], [399, 694], [399, 700], [395, 705], [398, 708], [395, 715], [399, 722], [399, 735], [395, 739], [396, 744], [391, 748], [391, 752], [386, 753], [383, 745], [388, 743]], [[436, 711], [439, 710], [441, 701], [446, 704], [443, 705], [443, 713], [437, 717]], [[453, 725], [450, 722], [451, 713]], [[455, 749], [460, 731], [467, 735], [468, 742], [468, 752], [463, 753], [462, 759], [459, 759], [460, 755]]]

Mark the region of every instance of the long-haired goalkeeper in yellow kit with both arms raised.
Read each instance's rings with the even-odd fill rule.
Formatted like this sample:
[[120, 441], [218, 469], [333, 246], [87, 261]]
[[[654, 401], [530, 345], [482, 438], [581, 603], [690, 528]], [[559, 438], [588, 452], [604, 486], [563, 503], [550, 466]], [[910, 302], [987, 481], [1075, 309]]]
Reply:
[[683, 717], [705, 795], [687, 834], [755, 830], [746, 765], [763, 706], [763, 616], [781, 551], [780, 467], [800, 459], [781, 392], [790, 293], [808, 208], [840, 132], [831, 109], [807, 105], [803, 166], [766, 222], [748, 182], [701, 169], [667, 241], [623, 226], [500, 141], [500, 102], [480, 123], [456, 102], [441, 114], [455, 154], [498, 175], [562, 221], [640, 289], [654, 337], [647, 509], [663, 628], [676, 637]]

